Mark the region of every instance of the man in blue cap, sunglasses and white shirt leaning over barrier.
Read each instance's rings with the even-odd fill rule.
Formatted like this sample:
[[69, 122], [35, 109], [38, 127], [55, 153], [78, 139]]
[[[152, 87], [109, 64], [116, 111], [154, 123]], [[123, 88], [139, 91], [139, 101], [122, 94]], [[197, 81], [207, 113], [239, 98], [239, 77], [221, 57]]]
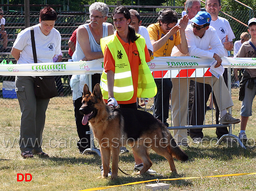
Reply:
[[[188, 42], [188, 52], [190, 56], [200, 58], [214, 58], [217, 61], [215, 68], [221, 65], [225, 51], [224, 47], [216, 33], [216, 30], [209, 26], [211, 22], [211, 15], [205, 11], [199, 11], [197, 15], [190, 20], [192, 23], [186, 28], [186, 39]], [[211, 49], [209, 50], [209, 47]], [[191, 78], [194, 80], [193, 78]], [[213, 92], [215, 92], [217, 105], [221, 108], [221, 121], [223, 124], [239, 123], [240, 119], [235, 119], [231, 114], [227, 113], [227, 109], [232, 107], [233, 101], [229, 94], [229, 90], [225, 85], [223, 76], [220, 78], [197, 78], [197, 82], [205, 82], [205, 84], [212, 84]], [[180, 85], [180, 88], [183, 86]], [[184, 86], [187, 88], [187, 86]], [[220, 95], [221, 94], [221, 95]], [[184, 100], [186, 99], [186, 100]], [[188, 98], [182, 97], [182, 102], [187, 103]], [[180, 106], [180, 113], [187, 113], [187, 105]], [[179, 109], [179, 108], [174, 108]], [[186, 131], [186, 130], [184, 130]]]

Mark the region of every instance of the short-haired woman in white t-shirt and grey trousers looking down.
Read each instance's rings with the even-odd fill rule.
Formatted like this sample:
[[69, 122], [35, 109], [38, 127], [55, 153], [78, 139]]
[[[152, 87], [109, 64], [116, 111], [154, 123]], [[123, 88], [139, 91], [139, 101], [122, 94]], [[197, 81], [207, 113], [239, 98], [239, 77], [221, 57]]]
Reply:
[[[61, 53], [61, 35], [53, 28], [56, 20], [55, 10], [45, 7], [40, 11], [39, 24], [33, 26], [38, 63], [53, 62], [53, 57]], [[18, 34], [12, 48], [12, 56], [18, 64], [34, 63], [29, 28]], [[15, 84], [21, 109], [21, 156], [23, 158], [32, 158], [33, 154], [49, 156], [41, 148], [49, 99], [35, 97], [35, 76], [16, 76]]]

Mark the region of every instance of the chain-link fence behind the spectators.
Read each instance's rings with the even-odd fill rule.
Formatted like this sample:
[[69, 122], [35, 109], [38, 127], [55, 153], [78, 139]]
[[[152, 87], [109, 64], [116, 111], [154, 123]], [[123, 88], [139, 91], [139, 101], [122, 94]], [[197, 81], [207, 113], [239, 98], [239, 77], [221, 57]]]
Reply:
[[[176, 9], [176, 11], [179, 13], [179, 16], [181, 15], [182, 9]], [[252, 13], [249, 11], [239, 11], [239, 12], [228, 12], [230, 16], [233, 16], [234, 18], [242, 21], [243, 23], [247, 23], [250, 17], [252, 16]], [[229, 23], [233, 29], [233, 32], [235, 34], [236, 39], [240, 39], [240, 34], [242, 32], [247, 31], [247, 27], [238, 23], [237, 21], [231, 19], [230, 17], [226, 16], [225, 14], [220, 13], [221, 17], [224, 17], [229, 20]], [[4, 18], [6, 19], [5, 24], [5, 30], [8, 33], [8, 47], [12, 48], [12, 45], [21, 30], [25, 29], [25, 17], [23, 14], [18, 12], [8, 12], [4, 14]], [[87, 19], [89, 18], [88, 15], [85, 13], [65, 13], [65, 14], [59, 14], [58, 19], [55, 23], [55, 28], [61, 33], [62, 41], [61, 41], [61, 50], [63, 52], [63, 61], [67, 61], [69, 58], [69, 55], [67, 53], [68, 51], [68, 40], [72, 34], [72, 32], [79, 26], [82, 25]], [[151, 23], [156, 23], [157, 21], [157, 12], [141, 12], [141, 19], [142, 19], [142, 25], [148, 26]], [[107, 22], [112, 22], [109, 18]], [[31, 13], [30, 14], [30, 24], [35, 25], [39, 23], [39, 13]], [[233, 41], [235, 42], [235, 41]], [[231, 56], [233, 55], [233, 52], [231, 52]], [[6, 59], [9, 63], [10, 60], [15, 64], [16, 60], [12, 58], [10, 53], [0, 53], [0, 62], [2, 62], [3, 59]], [[240, 72], [238, 72], [238, 75], [240, 75]], [[232, 79], [234, 77], [232, 76]], [[0, 76], [0, 105], [13, 105], [18, 104], [17, 99], [8, 99], [3, 98], [3, 82], [4, 81], [14, 81], [14, 76]], [[232, 82], [235, 80], [233, 79]], [[69, 79], [68, 76], [58, 76], [56, 79], [56, 84], [58, 86], [59, 91], [59, 97], [55, 97], [51, 99], [50, 103], [67, 103], [72, 100], [71, 98], [71, 88], [69, 86]], [[234, 86], [235, 87], [235, 86]], [[238, 91], [238, 89], [237, 89]]]

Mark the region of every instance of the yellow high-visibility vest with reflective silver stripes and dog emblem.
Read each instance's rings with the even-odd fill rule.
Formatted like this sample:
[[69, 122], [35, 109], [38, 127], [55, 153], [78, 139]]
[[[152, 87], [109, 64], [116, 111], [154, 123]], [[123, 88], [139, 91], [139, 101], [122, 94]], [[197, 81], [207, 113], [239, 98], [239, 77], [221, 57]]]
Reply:
[[[156, 95], [157, 88], [145, 58], [145, 39], [140, 36], [135, 43], [142, 63], [139, 65], [137, 97], [154, 97]], [[107, 45], [115, 60], [115, 77], [113, 88], [115, 99], [117, 101], [130, 100], [133, 97], [134, 90], [131, 67], [127, 54], [125, 53], [125, 49], [116, 35], [102, 38], [100, 40], [100, 45], [103, 54]], [[105, 70], [102, 73], [100, 86], [103, 98], [108, 99], [107, 74]]]

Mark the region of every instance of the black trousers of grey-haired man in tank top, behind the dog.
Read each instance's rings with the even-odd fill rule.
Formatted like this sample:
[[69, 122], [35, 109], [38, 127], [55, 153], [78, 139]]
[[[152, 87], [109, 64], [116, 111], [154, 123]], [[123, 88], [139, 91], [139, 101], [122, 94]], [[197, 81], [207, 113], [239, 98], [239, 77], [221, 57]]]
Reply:
[[[92, 75], [92, 88], [100, 83], [100, 74]], [[90, 134], [86, 134], [86, 131], [90, 131], [88, 123], [86, 125], [82, 124], [82, 119], [84, 115], [80, 114], [79, 109], [82, 106], [82, 97], [73, 100], [74, 105], [74, 116], [76, 121], [76, 130], [79, 137], [77, 146], [80, 152], [83, 152], [86, 148], [90, 148]]]

